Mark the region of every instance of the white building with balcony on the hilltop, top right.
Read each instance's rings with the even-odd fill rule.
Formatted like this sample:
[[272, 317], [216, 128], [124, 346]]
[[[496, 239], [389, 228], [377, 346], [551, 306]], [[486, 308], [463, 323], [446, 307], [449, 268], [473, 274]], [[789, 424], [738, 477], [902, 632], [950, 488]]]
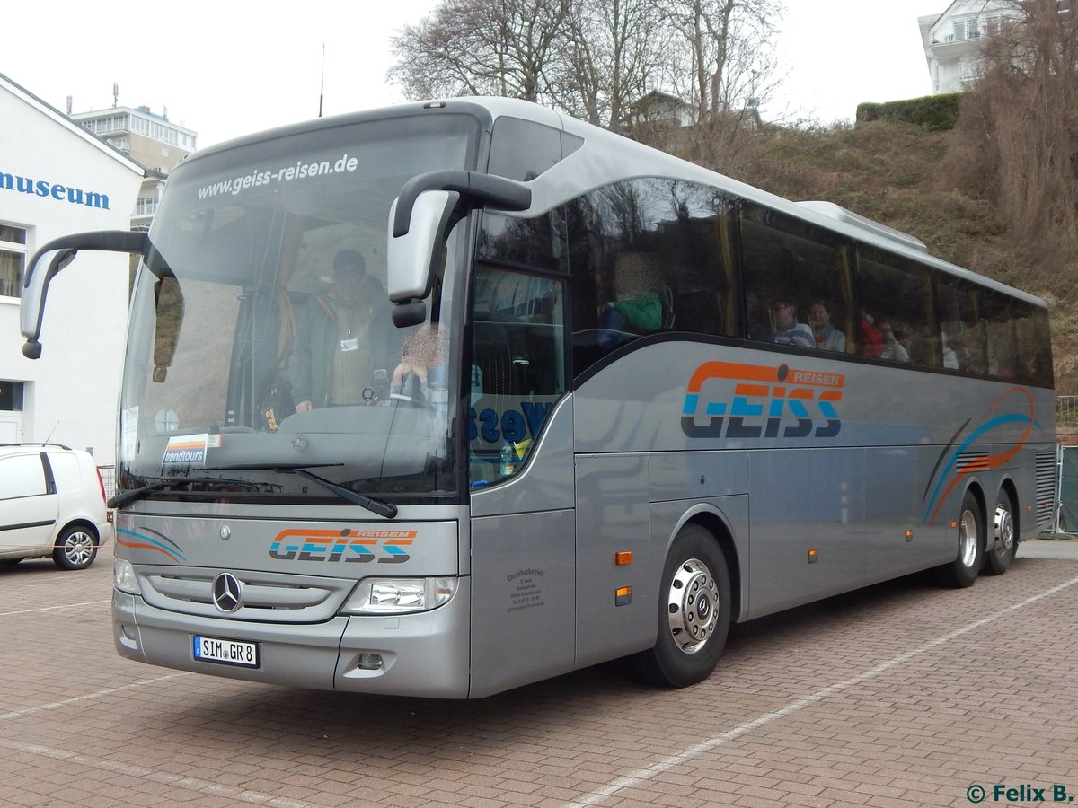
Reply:
[[932, 93], [960, 93], [976, 81], [984, 38], [1020, 15], [1013, 0], [955, 0], [942, 14], [917, 17]]

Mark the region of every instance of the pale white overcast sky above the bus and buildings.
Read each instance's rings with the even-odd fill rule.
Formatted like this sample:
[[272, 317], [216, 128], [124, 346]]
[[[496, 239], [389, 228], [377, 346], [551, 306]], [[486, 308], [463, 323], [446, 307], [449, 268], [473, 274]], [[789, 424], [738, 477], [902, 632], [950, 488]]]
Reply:
[[[783, 88], [764, 117], [853, 120], [860, 101], [927, 95], [917, 16], [950, 0], [785, 0]], [[403, 100], [386, 84], [389, 38], [437, 0], [81, 0], [6, 4], [0, 73], [56, 107], [149, 106], [199, 148], [318, 115]], [[2, 143], [2, 140], [0, 140]]]

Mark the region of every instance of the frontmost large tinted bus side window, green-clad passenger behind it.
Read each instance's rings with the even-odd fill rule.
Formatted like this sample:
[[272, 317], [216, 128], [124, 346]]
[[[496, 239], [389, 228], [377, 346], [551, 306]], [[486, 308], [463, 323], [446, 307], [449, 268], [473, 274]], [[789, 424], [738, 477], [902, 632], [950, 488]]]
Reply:
[[736, 200], [679, 180], [626, 180], [566, 206], [573, 370], [646, 334], [737, 331]]

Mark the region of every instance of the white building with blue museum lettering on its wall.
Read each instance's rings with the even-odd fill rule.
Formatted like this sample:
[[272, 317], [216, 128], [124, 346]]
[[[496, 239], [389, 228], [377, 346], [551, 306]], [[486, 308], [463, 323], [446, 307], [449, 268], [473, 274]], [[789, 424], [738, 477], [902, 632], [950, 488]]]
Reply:
[[144, 171], [4, 75], [0, 120], [0, 443], [47, 437], [111, 464], [128, 256], [83, 252], [56, 277], [37, 361], [23, 357], [20, 282], [58, 236], [129, 229]]

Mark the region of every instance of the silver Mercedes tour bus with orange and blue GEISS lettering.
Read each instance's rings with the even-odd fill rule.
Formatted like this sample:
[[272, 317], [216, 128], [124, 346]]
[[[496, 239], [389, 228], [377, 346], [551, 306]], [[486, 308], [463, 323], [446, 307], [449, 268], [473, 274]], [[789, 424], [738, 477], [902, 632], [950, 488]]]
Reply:
[[1051, 519], [1042, 301], [523, 101], [198, 152], [149, 233], [38, 252], [27, 356], [79, 250], [140, 260], [132, 659], [476, 698], [631, 657], [685, 686], [731, 621], [968, 586]]

